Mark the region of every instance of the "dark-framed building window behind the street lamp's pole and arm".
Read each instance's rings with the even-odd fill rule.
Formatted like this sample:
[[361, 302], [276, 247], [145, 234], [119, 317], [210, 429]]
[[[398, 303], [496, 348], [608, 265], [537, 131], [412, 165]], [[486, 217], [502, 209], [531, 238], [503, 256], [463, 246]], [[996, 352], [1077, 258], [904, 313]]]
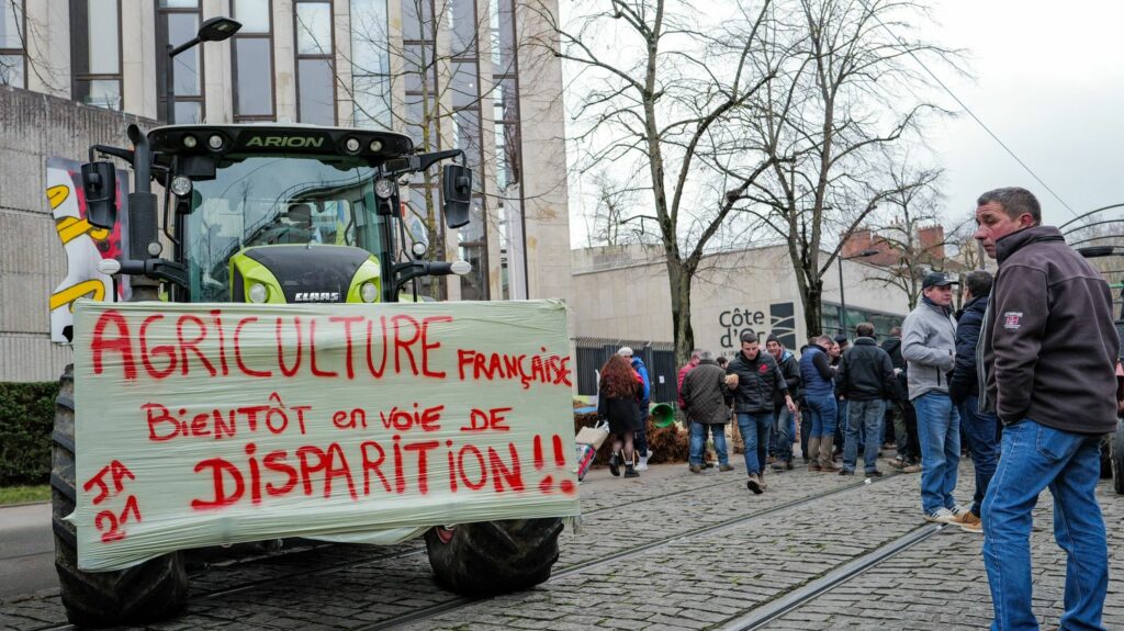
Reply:
[[[199, 33], [199, 0], [156, 1], [156, 94], [160, 118], [167, 118], [167, 45], [173, 47], [188, 42]], [[175, 102], [175, 122], [203, 122], [202, 46], [184, 51], [173, 60], [172, 84]]]

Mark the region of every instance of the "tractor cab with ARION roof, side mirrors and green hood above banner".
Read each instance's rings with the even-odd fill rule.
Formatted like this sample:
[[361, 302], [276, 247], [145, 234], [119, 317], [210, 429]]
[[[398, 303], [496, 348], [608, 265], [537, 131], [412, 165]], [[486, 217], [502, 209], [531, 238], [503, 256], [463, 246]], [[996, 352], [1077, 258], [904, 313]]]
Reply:
[[[399, 179], [459, 150], [416, 154], [398, 134], [278, 125], [182, 125], [142, 134], [133, 150], [96, 146], [83, 166], [90, 221], [112, 226], [112, 165], [136, 173], [129, 195], [130, 257], [109, 273], [165, 281], [175, 302], [393, 302], [410, 278], [463, 273], [428, 262], [427, 243], [401, 225]], [[447, 164], [444, 216], [468, 222], [472, 172]], [[155, 196], [163, 184], [156, 235]], [[400, 252], [404, 260], [396, 260]], [[112, 267], [112, 263], [110, 263]]]

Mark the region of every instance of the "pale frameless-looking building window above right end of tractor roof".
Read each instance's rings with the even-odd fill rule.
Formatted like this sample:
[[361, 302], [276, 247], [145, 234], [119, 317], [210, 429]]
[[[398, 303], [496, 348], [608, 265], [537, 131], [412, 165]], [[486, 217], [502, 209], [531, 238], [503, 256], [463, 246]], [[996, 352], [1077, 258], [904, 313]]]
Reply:
[[390, 129], [387, 0], [352, 0], [352, 102], [355, 127]]

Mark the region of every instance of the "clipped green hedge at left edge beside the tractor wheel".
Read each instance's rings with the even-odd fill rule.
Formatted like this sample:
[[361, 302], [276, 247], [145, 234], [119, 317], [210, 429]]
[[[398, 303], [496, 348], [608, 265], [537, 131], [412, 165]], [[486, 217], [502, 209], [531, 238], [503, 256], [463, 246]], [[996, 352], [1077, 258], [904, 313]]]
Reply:
[[0, 383], [0, 486], [51, 481], [58, 384]]

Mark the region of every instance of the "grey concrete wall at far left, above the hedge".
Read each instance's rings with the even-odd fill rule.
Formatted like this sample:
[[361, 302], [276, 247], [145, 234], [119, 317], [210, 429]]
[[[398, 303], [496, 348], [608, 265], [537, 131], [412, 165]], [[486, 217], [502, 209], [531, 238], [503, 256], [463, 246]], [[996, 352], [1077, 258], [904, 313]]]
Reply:
[[153, 121], [0, 86], [0, 382], [53, 381], [70, 349], [51, 342], [48, 299], [66, 257], [46, 198], [48, 157], [85, 161], [92, 144], [128, 146]]

